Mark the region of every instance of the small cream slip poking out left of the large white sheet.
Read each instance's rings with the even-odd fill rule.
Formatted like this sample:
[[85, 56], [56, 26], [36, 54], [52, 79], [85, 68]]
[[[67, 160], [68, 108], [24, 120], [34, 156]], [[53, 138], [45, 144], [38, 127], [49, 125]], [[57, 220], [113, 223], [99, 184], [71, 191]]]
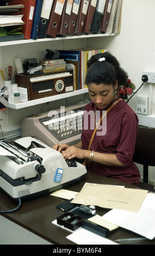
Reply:
[[116, 228], [119, 228], [119, 226], [117, 226], [115, 224], [112, 224], [112, 223], [109, 223], [107, 221], [102, 220], [102, 216], [100, 216], [100, 215], [95, 215], [95, 216], [89, 218], [88, 221], [91, 221], [91, 222], [93, 222], [93, 223], [95, 223], [97, 225], [100, 225], [100, 226], [102, 226], [104, 228], [107, 228], [110, 231], [112, 231], [112, 230], [114, 230]]

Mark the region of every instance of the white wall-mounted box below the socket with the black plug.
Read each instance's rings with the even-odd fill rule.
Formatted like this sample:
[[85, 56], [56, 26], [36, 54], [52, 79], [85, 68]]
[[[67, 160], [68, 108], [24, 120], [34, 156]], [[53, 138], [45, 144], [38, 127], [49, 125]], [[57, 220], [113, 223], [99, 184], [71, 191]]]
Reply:
[[138, 114], [148, 115], [148, 96], [137, 96], [136, 112]]

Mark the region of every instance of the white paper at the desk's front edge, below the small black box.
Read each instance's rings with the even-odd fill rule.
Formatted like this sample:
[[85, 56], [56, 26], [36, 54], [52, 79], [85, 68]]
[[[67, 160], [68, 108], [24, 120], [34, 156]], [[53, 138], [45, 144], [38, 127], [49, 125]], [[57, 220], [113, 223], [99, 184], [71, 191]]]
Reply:
[[66, 236], [66, 238], [77, 243], [77, 245], [118, 245], [118, 243], [100, 235], [96, 235], [84, 228], [78, 229], [71, 235]]

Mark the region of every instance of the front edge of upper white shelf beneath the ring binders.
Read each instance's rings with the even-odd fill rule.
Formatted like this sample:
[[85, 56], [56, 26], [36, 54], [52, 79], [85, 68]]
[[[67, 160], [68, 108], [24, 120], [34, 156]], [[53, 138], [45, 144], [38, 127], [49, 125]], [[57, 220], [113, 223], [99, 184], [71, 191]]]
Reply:
[[66, 36], [66, 37], [56, 37], [56, 38], [39, 38], [39, 39], [24, 39], [24, 40], [14, 40], [14, 41], [5, 41], [0, 42], [1, 46], [8, 46], [8, 45], [21, 45], [21, 44], [29, 44], [32, 42], [46, 42], [46, 41], [58, 41], [58, 40], [71, 40], [71, 39], [80, 39], [80, 38], [95, 38], [95, 37], [103, 37], [103, 36], [114, 36], [116, 34], [90, 34], [90, 35], [73, 35], [73, 36]]

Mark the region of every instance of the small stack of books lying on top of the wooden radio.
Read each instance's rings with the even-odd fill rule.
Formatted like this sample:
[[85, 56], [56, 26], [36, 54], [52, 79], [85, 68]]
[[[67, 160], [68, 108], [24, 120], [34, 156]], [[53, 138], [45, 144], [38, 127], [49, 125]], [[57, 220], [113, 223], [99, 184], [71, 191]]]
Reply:
[[39, 60], [39, 65], [42, 65], [44, 73], [66, 69], [66, 62], [64, 59]]

